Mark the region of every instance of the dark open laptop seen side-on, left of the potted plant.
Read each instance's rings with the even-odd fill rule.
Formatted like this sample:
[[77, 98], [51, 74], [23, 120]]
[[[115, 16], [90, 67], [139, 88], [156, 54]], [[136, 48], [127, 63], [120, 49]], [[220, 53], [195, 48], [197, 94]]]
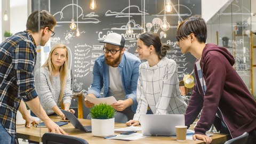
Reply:
[[74, 114], [69, 111], [61, 109], [62, 113], [68, 118], [70, 123], [76, 128], [84, 132], [92, 132], [91, 125], [82, 125], [82, 123], [76, 118]]

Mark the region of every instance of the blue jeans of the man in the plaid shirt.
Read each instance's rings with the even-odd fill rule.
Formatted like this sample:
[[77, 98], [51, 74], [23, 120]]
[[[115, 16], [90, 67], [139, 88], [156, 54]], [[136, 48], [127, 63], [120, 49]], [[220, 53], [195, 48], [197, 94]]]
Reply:
[[14, 144], [15, 143], [15, 137], [12, 137], [3, 127], [2, 124], [0, 124], [0, 143], [6, 143], [6, 144]]

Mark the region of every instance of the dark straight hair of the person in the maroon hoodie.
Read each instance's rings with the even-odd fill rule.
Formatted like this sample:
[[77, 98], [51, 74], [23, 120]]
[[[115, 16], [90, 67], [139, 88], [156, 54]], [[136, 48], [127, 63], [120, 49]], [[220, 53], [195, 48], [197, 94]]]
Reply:
[[178, 26], [177, 36], [181, 37], [181, 39], [184, 39], [192, 33], [195, 34], [199, 43], [206, 43], [207, 27], [204, 19], [201, 18], [200, 15], [187, 18]]

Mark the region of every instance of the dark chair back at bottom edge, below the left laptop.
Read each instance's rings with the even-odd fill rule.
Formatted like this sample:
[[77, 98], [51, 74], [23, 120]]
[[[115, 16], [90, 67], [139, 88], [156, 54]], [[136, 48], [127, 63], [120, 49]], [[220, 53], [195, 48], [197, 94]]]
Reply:
[[72, 137], [70, 135], [62, 135], [57, 133], [45, 133], [42, 138], [43, 144], [88, 144], [82, 138]]

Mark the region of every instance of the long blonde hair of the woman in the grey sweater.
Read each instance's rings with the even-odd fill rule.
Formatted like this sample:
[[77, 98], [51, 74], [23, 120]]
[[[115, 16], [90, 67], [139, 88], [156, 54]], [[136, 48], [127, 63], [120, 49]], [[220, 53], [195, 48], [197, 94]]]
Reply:
[[66, 90], [66, 83], [67, 83], [67, 75], [68, 75], [68, 49], [67, 46], [63, 44], [57, 44], [54, 45], [50, 51], [48, 59], [45, 61], [44, 65], [42, 67], [47, 67], [50, 71], [50, 81], [52, 83], [52, 71], [54, 69], [54, 65], [52, 64], [52, 53], [55, 49], [61, 48], [66, 50], [66, 61], [63, 63], [63, 65], [60, 67], [60, 97], [59, 97], [59, 102], [61, 102], [64, 92]]

